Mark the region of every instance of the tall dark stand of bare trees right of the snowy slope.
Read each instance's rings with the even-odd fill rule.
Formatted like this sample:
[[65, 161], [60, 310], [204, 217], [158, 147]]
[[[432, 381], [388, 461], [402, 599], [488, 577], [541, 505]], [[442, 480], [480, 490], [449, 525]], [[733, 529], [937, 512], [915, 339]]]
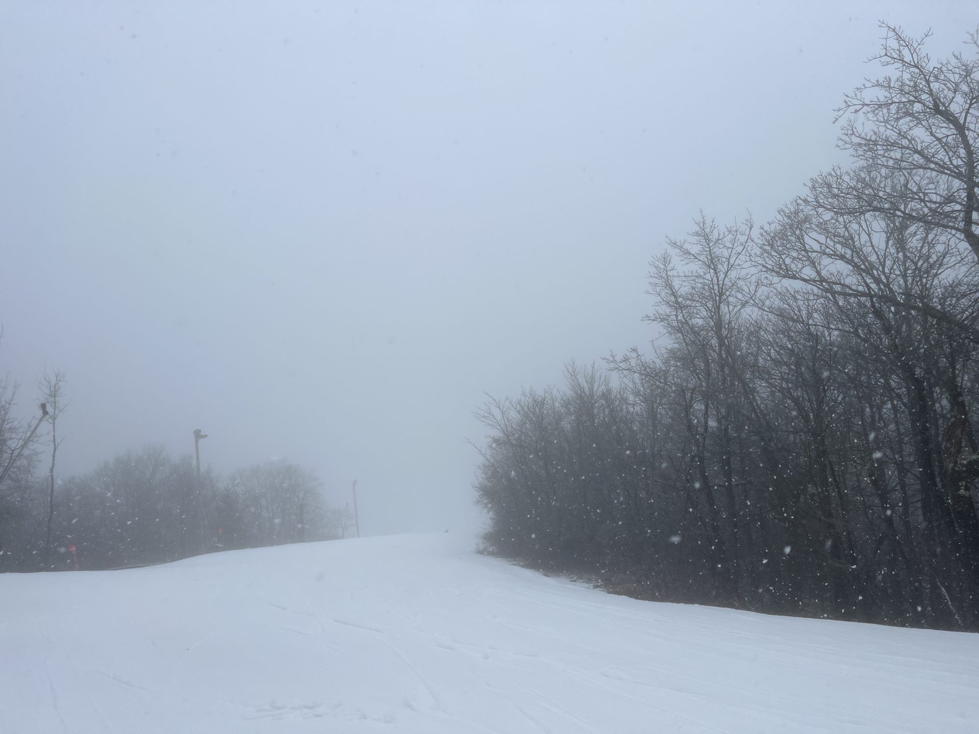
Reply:
[[[650, 263], [649, 355], [491, 401], [497, 552], [646, 598], [979, 629], [976, 38], [838, 111], [850, 168]], [[845, 115], [845, 116], [844, 116]]]

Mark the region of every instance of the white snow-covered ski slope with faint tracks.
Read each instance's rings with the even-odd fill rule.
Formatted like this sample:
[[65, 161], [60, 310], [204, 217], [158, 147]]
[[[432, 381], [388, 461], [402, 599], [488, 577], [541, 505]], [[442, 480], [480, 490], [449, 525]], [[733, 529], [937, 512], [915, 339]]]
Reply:
[[0, 732], [979, 731], [979, 635], [640, 602], [472, 547], [0, 576]]

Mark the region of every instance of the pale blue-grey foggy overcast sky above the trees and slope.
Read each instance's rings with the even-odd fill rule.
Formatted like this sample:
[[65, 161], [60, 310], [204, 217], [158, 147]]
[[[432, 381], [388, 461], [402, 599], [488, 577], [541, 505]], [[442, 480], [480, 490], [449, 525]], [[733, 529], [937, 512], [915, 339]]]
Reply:
[[65, 473], [201, 428], [472, 526], [484, 391], [648, 343], [666, 236], [843, 161], [879, 19], [979, 23], [927, 5], [0, 2], [0, 371], [68, 374]]

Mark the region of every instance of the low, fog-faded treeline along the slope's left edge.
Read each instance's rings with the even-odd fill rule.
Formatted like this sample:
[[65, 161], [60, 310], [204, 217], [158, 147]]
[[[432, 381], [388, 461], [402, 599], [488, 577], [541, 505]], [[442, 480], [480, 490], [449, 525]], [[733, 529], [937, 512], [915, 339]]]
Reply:
[[[41, 383], [37, 419], [13, 418], [0, 382], [0, 572], [112, 569], [350, 533], [303, 467], [270, 461], [198, 482], [194, 458], [163, 446], [130, 450], [88, 474], [55, 481], [64, 376]], [[31, 433], [32, 428], [41, 431]], [[72, 551], [73, 548], [73, 551]]]

